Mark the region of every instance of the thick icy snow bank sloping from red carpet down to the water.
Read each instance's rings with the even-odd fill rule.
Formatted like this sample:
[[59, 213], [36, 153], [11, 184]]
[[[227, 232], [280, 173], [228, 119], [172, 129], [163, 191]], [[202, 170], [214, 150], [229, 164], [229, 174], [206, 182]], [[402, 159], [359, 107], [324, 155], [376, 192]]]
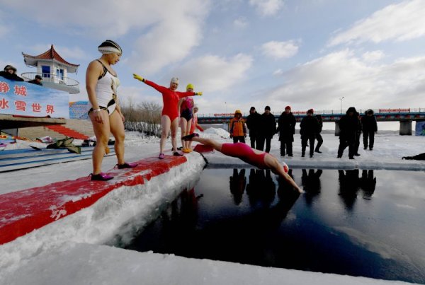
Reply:
[[128, 243], [135, 232], [157, 218], [180, 192], [190, 189], [200, 177], [205, 161], [197, 153], [187, 156], [190, 163], [171, 168], [144, 185], [120, 187], [89, 208], [59, 219], [21, 238], [0, 246], [0, 279], [40, 252], [61, 248], [66, 243]]

